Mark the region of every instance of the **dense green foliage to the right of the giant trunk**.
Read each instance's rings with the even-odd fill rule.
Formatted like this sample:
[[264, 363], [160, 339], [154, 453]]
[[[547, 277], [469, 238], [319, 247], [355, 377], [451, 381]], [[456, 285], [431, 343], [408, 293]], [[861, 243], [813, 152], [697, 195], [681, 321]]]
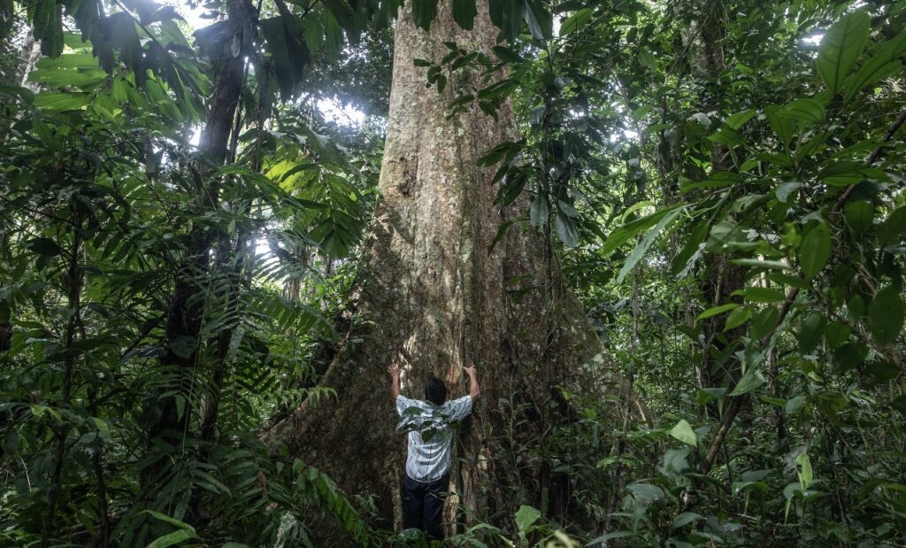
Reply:
[[903, 540], [906, 10], [856, 7], [592, 5], [475, 58], [509, 78], [454, 108], [524, 116], [498, 200], [531, 197], [653, 412], [577, 396], [560, 433], [601, 540]]

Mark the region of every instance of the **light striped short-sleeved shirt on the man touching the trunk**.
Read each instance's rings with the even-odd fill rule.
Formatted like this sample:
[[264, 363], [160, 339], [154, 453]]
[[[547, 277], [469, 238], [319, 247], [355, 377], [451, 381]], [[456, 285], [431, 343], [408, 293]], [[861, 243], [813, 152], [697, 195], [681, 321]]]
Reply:
[[450, 467], [450, 447], [453, 445], [451, 423], [459, 422], [472, 412], [472, 397], [435, 406], [419, 399], [397, 396], [400, 422], [397, 430], [409, 432], [406, 456], [406, 475], [417, 482], [437, 481]]

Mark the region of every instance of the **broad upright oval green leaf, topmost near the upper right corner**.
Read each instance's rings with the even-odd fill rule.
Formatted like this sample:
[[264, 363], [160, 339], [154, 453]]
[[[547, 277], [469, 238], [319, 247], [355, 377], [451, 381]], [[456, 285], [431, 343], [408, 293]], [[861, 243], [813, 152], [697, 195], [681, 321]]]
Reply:
[[862, 54], [871, 25], [872, 17], [858, 10], [844, 15], [824, 34], [816, 65], [832, 94], [840, 91], [850, 67]]

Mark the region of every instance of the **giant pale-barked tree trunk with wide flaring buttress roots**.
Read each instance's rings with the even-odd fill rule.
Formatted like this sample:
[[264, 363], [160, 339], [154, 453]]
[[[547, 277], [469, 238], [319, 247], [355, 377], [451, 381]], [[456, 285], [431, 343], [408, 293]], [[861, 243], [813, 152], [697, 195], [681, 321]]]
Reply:
[[[491, 54], [498, 31], [487, 0], [477, 3], [473, 31], [454, 23], [448, 0], [430, 33], [414, 26], [409, 6], [396, 26], [382, 199], [364, 243], [355, 317], [323, 377], [337, 398], [304, 403], [263, 439], [288, 445], [347, 493], [376, 494], [381, 525], [399, 527], [406, 442], [394, 428], [386, 368], [402, 350], [412, 365], [404, 394], [422, 397], [434, 374], [453, 397], [465, 390], [461, 367], [474, 362], [482, 396], [458, 435], [451, 505], [464, 504], [478, 518], [511, 516], [520, 503], [563, 508], [569, 484], [543, 465], [558, 416], [551, 409], [564, 409], [555, 387], [571, 385], [580, 365], [602, 360], [600, 346], [571, 294], [555, 291], [562, 302], [545, 307], [535, 233], [516, 225], [489, 252], [497, 228], [525, 210], [521, 202], [494, 206], [494, 170], [476, 167], [482, 153], [516, 135], [511, 107], [501, 108], [498, 121], [477, 108], [448, 118], [454, 96], [482, 87], [478, 74], [454, 76], [439, 94], [426, 89], [426, 69], [412, 63], [439, 63], [448, 41]], [[516, 298], [523, 288], [530, 290]], [[545, 314], [556, 315], [554, 338], [545, 333]]]

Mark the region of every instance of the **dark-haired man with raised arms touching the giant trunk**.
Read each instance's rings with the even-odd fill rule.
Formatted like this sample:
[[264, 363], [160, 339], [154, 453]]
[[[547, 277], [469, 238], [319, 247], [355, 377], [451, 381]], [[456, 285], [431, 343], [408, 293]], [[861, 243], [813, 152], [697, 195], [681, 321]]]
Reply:
[[468, 375], [468, 396], [447, 401], [447, 386], [438, 377], [425, 384], [425, 399], [400, 395], [400, 366], [390, 365], [390, 393], [400, 414], [398, 429], [409, 431], [406, 472], [402, 482], [404, 529], [420, 529], [432, 540], [443, 540], [441, 520], [443, 494], [449, 487], [450, 448], [453, 430], [450, 425], [466, 418], [478, 397], [475, 366], [464, 369]]

